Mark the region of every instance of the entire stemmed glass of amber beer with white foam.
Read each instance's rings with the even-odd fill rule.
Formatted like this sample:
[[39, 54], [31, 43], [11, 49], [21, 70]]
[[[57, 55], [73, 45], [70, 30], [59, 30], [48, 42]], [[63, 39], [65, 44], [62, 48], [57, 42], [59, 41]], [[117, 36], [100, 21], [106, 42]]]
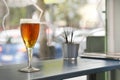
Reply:
[[33, 55], [33, 47], [37, 41], [40, 30], [40, 22], [39, 20], [34, 19], [20, 19], [20, 31], [23, 42], [27, 49], [28, 55], [28, 66], [26, 68], [20, 69], [22, 72], [36, 72], [40, 69], [34, 68], [31, 65], [32, 55]]

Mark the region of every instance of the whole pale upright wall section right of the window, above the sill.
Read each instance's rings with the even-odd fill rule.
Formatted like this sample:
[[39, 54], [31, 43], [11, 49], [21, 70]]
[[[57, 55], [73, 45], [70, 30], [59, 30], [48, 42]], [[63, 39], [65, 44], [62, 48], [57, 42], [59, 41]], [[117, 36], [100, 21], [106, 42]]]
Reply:
[[120, 0], [107, 0], [108, 51], [120, 52]]

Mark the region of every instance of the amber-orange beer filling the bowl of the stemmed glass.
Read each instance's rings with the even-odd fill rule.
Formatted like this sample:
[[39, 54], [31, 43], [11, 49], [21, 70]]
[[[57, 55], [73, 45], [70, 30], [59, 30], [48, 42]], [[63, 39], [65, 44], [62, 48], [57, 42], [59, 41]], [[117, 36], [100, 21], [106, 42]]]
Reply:
[[21, 23], [21, 35], [28, 48], [32, 48], [39, 35], [39, 23]]

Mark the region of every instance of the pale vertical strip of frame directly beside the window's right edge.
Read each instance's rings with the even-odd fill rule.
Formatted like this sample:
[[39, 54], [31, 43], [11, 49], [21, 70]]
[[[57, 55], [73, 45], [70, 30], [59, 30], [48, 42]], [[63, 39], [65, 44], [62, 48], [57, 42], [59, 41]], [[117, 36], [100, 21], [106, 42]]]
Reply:
[[114, 1], [107, 0], [108, 52], [114, 52]]

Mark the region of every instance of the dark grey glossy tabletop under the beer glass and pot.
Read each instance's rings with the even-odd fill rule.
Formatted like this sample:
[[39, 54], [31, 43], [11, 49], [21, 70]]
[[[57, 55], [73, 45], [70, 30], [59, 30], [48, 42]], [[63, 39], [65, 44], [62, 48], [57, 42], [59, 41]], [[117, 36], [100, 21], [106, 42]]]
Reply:
[[23, 73], [18, 70], [26, 64], [0, 66], [0, 80], [62, 80], [120, 68], [119, 60], [78, 58], [77, 60], [53, 59], [34, 62], [39, 72]]

